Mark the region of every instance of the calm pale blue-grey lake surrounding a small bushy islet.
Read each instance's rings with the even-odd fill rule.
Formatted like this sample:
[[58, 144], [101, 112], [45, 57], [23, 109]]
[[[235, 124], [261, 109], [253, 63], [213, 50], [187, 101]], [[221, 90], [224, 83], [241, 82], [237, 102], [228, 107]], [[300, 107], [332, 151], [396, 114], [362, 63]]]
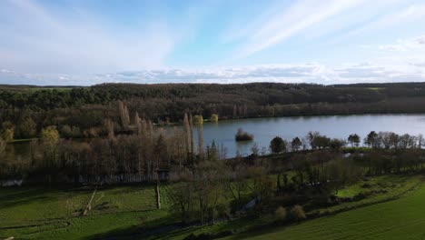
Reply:
[[[250, 143], [236, 143], [234, 135], [239, 127], [254, 135], [254, 140]], [[338, 115], [229, 120], [203, 124], [203, 141], [205, 145], [211, 144], [213, 140], [223, 144], [230, 157], [237, 150], [242, 155], [250, 154], [253, 143], [257, 143], [260, 149], [266, 147], [268, 151], [270, 141], [276, 135], [292, 140], [295, 136], [304, 137], [309, 131], [344, 139], [351, 134], [358, 134], [363, 139], [371, 131], [425, 135], [425, 115]], [[193, 134], [197, 137], [197, 134]]]

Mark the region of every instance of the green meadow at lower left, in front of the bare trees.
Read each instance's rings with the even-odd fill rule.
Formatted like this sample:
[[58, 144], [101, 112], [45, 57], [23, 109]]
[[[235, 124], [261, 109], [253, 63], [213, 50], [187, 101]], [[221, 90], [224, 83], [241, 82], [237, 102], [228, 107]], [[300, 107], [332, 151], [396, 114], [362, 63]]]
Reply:
[[[80, 217], [93, 189], [0, 188], [0, 239], [75, 239], [163, 221], [153, 185], [101, 189]], [[13, 226], [17, 228], [7, 229]]]

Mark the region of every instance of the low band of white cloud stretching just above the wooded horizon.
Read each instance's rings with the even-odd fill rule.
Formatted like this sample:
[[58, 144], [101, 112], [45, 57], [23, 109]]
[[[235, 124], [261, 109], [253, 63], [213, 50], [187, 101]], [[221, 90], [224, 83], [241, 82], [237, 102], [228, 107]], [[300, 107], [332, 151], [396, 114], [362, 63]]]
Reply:
[[[95, 85], [101, 83], [214, 83], [251, 82], [351, 84], [425, 81], [422, 59], [392, 64], [321, 64], [251, 65], [200, 69], [156, 69], [99, 75], [31, 75], [0, 73], [0, 84], [7, 79], [34, 85]], [[59, 82], [57, 82], [59, 81]]]

